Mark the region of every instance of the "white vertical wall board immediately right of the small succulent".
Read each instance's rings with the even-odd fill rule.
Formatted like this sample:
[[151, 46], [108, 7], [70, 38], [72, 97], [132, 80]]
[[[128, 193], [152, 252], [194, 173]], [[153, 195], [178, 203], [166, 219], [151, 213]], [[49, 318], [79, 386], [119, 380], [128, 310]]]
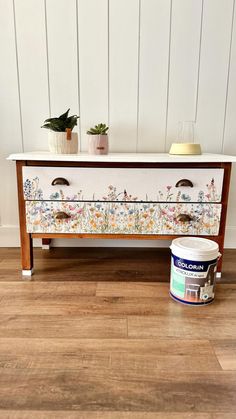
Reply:
[[136, 151], [139, 1], [110, 0], [110, 145]]

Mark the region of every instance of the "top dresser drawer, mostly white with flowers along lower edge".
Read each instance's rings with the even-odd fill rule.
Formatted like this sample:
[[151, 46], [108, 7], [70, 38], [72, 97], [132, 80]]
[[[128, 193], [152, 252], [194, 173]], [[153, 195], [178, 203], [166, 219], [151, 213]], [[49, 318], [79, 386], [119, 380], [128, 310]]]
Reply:
[[25, 200], [220, 202], [224, 169], [23, 167]]

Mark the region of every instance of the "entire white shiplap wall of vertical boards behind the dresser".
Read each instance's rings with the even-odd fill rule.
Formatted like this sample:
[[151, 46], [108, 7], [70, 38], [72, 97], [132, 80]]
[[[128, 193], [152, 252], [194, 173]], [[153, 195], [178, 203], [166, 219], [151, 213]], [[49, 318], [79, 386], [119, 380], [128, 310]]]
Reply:
[[[100, 121], [111, 151], [162, 152], [179, 120], [196, 120], [203, 151], [236, 153], [235, 0], [0, 0], [0, 10], [0, 245], [18, 243], [5, 157], [47, 149], [40, 125], [67, 107], [81, 117], [82, 150]], [[234, 169], [232, 247], [235, 184]]]

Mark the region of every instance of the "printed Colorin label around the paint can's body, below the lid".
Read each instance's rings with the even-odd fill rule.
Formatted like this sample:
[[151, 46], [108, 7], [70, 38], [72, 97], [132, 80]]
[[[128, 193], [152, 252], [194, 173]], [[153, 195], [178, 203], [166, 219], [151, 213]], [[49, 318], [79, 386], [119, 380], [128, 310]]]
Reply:
[[171, 295], [187, 304], [208, 304], [214, 299], [217, 259], [192, 261], [171, 256]]

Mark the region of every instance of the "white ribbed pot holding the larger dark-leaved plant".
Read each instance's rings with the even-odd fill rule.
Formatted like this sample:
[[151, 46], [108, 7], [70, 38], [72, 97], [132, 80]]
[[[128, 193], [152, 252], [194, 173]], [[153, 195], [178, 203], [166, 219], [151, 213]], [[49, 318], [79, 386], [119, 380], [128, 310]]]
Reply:
[[49, 151], [54, 154], [77, 154], [78, 153], [78, 134], [71, 133], [71, 139], [67, 140], [66, 132], [48, 132]]

